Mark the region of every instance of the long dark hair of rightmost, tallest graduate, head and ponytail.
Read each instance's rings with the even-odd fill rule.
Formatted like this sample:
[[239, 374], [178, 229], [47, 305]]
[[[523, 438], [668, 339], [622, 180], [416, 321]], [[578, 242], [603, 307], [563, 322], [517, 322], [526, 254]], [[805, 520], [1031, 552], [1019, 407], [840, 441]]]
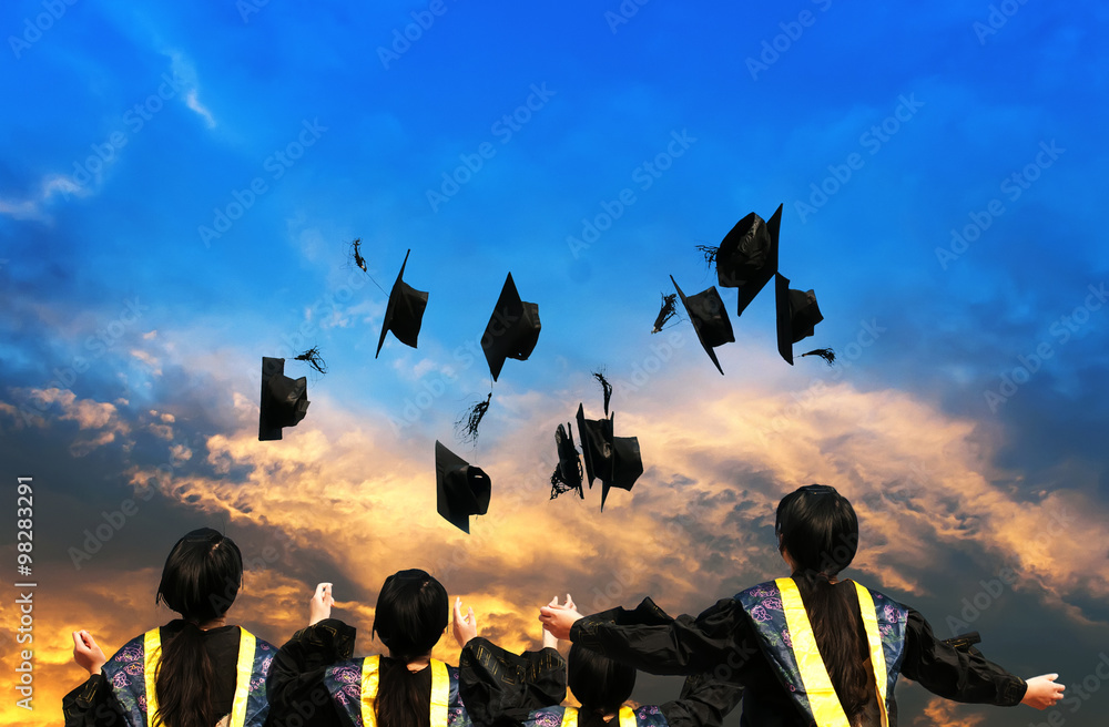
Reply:
[[854, 587], [831, 583], [855, 557], [855, 510], [835, 488], [810, 484], [782, 498], [774, 529], [779, 549], [793, 559], [793, 580], [840, 705], [856, 724], [874, 699], [864, 666], [866, 641]]

